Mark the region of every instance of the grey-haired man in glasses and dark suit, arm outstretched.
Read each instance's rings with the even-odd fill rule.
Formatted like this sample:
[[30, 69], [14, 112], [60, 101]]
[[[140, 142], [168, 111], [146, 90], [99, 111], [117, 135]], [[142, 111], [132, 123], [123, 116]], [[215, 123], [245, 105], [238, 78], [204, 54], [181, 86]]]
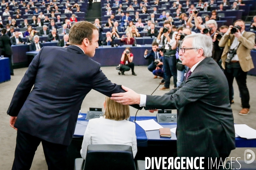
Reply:
[[209, 157], [218, 158], [219, 163], [236, 148], [227, 79], [211, 58], [211, 37], [189, 35], [181, 46], [182, 64], [190, 68], [183, 87], [163, 96], [137, 94], [123, 87], [127, 92], [112, 94], [111, 99], [125, 105], [140, 104], [151, 112], [178, 109], [177, 156], [204, 157], [205, 162]]

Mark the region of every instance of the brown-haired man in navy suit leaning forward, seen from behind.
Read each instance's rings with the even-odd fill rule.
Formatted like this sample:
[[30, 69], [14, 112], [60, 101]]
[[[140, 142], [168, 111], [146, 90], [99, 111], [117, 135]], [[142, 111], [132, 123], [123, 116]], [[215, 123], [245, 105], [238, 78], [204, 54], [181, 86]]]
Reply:
[[90, 58], [98, 40], [96, 26], [77, 22], [70, 29], [70, 46], [43, 47], [32, 60], [7, 111], [17, 130], [12, 170], [29, 170], [41, 142], [48, 169], [64, 170], [84, 97], [92, 89], [106, 96], [125, 92]]

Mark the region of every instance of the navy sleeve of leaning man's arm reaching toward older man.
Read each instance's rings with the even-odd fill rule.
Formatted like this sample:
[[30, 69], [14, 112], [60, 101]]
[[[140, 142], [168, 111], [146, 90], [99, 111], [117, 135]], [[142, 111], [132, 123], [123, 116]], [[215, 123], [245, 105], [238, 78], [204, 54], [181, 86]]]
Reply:
[[[113, 84], [100, 69], [100, 64], [96, 70], [96, 73], [92, 79], [92, 89], [98, 91], [101, 94], [104, 94], [108, 97], [111, 97], [115, 93], [124, 93], [125, 90], [122, 89], [121, 85]], [[142, 109], [139, 105], [131, 105], [134, 108]]]

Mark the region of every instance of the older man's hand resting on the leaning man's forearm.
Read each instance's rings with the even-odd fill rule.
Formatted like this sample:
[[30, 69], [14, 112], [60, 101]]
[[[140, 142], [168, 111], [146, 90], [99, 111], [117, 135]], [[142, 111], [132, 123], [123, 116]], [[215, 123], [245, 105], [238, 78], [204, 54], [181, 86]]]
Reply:
[[121, 103], [123, 105], [140, 105], [140, 94], [137, 94], [135, 91], [131, 90], [122, 85], [122, 89], [124, 89], [125, 93], [117, 93], [112, 94], [110, 99], [114, 100], [115, 102]]

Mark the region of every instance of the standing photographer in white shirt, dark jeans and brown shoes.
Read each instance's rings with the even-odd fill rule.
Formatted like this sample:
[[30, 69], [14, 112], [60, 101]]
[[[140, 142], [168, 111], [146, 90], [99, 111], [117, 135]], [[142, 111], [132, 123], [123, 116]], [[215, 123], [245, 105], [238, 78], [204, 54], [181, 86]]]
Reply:
[[[160, 44], [162, 42], [163, 46], [163, 70], [165, 76], [165, 84], [160, 91], [170, 90], [170, 79], [173, 76], [174, 88], [177, 87], [177, 68], [176, 68], [176, 50], [172, 50], [172, 43], [174, 42], [174, 34], [172, 31], [172, 24], [167, 21], [163, 23], [163, 28], [160, 28], [159, 34], [157, 36], [156, 42]], [[172, 40], [173, 39], [173, 40]]]

